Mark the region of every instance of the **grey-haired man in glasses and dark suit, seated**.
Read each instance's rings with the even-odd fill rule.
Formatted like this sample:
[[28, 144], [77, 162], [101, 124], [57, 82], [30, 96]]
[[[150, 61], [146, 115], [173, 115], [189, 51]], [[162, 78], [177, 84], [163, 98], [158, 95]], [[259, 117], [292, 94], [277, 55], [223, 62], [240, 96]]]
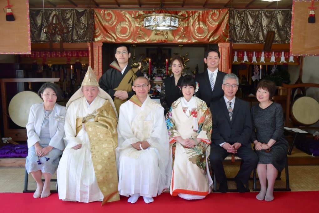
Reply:
[[229, 154], [243, 159], [244, 163], [234, 180], [237, 190], [245, 192], [246, 188], [243, 184], [248, 183], [250, 173], [258, 161], [249, 141], [252, 132], [249, 104], [247, 101], [235, 97], [238, 89], [238, 77], [235, 74], [227, 74], [221, 87], [224, 96], [211, 102], [210, 106], [213, 120], [211, 168], [215, 172], [217, 182], [219, 182], [220, 192], [225, 193], [228, 188], [223, 160]]

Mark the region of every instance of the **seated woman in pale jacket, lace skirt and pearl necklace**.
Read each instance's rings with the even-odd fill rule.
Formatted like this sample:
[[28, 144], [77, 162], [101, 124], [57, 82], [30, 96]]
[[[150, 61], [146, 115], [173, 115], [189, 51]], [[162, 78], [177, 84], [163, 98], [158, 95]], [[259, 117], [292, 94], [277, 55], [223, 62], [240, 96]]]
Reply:
[[[37, 183], [33, 197], [44, 198], [50, 195], [50, 180], [65, 147], [63, 136], [66, 109], [56, 104], [57, 100], [62, 99], [62, 91], [57, 84], [44, 83], [38, 95], [43, 103], [32, 105], [26, 125], [29, 148], [26, 170]], [[44, 183], [41, 180], [42, 174]]]

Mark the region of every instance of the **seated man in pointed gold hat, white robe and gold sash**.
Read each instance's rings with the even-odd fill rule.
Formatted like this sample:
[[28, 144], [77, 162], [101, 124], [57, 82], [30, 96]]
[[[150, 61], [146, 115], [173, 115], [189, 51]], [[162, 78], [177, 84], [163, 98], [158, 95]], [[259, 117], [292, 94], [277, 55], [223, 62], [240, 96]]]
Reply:
[[59, 199], [103, 201], [102, 205], [120, 200], [115, 161], [117, 114], [90, 66], [66, 108], [66, 147], [57, 169]]

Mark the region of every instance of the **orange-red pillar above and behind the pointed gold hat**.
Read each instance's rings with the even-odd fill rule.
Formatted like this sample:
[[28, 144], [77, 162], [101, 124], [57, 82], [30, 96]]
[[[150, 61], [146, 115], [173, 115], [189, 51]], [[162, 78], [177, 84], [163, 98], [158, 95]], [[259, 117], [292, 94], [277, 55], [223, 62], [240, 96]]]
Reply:
[[88, 43], [89, 47], [89, 65], [94, 70], [97, 79], [102, 76], [102, 42]]

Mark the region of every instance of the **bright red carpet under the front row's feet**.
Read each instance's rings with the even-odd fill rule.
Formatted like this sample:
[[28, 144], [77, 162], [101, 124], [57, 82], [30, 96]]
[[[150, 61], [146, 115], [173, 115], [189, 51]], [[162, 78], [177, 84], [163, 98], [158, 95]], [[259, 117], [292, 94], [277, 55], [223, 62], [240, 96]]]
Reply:
[[308, 192], [275, 192], [271, 202], [256, 200], [257, 193], [212, 193], [203, 200], [185, 201], [169, 193], [155, 197], [154, 202], [146, 204], [140, 197], [134, 204], [128, 203], [126, 197], [121, 201], [110, 202], [101, 206], [101, 202], [78, 203], [58, 199], [57, 193], [47, 198], [33, 198], [33, 193], [0, 193], [0, 212], [33, 212], [33, 213], [211, 213], [211, 212], [316, 212], [318, 210], [319, 191]]

